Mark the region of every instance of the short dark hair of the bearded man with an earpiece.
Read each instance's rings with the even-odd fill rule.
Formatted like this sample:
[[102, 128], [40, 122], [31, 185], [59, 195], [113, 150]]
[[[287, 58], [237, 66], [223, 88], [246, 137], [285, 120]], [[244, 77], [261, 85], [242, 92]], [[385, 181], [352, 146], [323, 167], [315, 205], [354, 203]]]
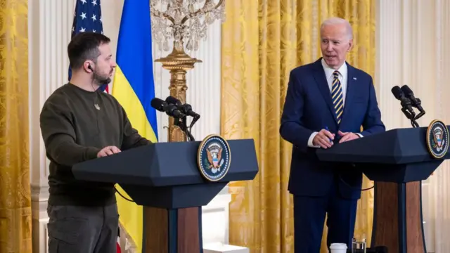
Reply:
[[98, 46], [110, 41], [110, 38], [96, 32], [80, 32], [75, 35], [68, 45], [70, 67], [77, 70], [86, 60], [92, 60], [95, 63], [100, 56]]

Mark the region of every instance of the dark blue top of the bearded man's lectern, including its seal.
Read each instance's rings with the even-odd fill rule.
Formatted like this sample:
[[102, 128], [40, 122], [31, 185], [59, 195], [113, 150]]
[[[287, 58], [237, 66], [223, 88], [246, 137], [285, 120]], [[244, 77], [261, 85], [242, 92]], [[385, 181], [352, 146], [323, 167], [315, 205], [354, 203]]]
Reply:
[[72, 171], [79, 180], [140, 187], [254, 179], [259, 168], [252, 139], [225, 141], [212, 137], [207, 140], [153, 143], [76, 164]]

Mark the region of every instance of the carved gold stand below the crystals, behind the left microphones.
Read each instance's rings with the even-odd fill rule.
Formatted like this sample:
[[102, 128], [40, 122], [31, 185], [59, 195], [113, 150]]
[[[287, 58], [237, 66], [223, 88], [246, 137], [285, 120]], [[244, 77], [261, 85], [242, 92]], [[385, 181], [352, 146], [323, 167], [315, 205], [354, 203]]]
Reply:
[[[201, 63], [201, 60], [191, 58], [185, 52], [183, 47], [181, 50], [177, 50], [174, 46], [174, 50], [165, 58], [160, 58], [155, 60], [156, 62], [162, 63], [162, 67], [170, 72], [170, 96], [178, 98], [181, 103], [186, 103], [186, 90], [188, 86], [186, 85], [186, 72], [187, 70], [192, 70], [195, 63]], [[174, 118], [169, 117], [169, 134], [168, 140], [172, 141], [186, 141], [187, 136], [179, 128], [179, 126], [174, 125]]]

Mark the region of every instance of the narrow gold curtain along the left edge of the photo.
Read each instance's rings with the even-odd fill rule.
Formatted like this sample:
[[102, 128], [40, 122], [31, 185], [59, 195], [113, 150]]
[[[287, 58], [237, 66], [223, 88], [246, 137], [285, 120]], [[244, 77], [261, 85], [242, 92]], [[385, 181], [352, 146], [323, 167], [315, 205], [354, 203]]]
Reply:
[[0, 1], [0, 252], [32, 252], [28, 1]]

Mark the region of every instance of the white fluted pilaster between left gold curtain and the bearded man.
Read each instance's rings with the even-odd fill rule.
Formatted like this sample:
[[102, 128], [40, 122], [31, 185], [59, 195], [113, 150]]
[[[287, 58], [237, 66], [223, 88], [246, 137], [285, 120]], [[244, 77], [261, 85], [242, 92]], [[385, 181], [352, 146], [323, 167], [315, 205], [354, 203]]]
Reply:
[[47, 252], [48, 167], [39, 128], [46, 98], [68, 80], [67, 44], [75, 0], [33, 0], [28, 7], [30, 182], [33, 252]]

